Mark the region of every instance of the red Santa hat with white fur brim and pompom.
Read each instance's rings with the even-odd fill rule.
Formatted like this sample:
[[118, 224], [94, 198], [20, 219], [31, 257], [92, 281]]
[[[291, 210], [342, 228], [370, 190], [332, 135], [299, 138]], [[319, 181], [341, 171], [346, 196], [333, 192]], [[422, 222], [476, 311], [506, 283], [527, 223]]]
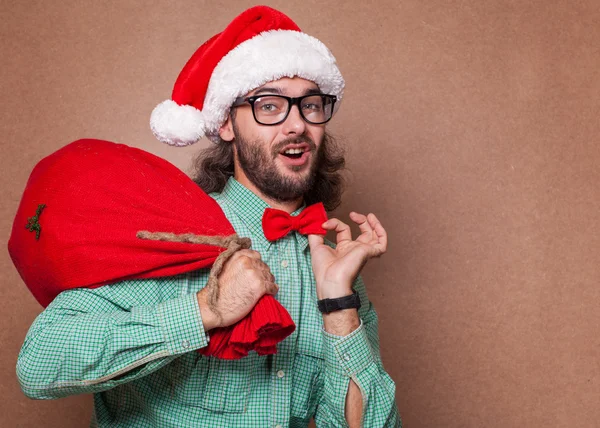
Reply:
[[198, 48], [179, 74], [172, 99], [152, 112], [150, 127], [156, 138], [174, 146], [205, 135], [216, 142], [236, 98], [295, 76], [337, 96], [339, 107], [344, 79], [329, 49], [283, 13], [253, 7]]

